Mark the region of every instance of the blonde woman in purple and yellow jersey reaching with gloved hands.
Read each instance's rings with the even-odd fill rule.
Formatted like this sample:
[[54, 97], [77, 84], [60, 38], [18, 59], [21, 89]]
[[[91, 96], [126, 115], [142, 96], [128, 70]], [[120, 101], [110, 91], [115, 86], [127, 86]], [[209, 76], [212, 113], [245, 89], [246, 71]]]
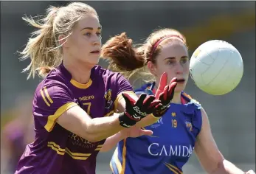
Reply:
[[97, 153], [122, 130], [152, 134], [140, 127], [167, 111], [176, 83], [159, 97], [136, 97], [121, 74], [97, 66], [101, 26], [92, 7], [72, 2], [49, 7], [40, 23], [24, 19], [38, 28], [21, 52], [21, 59], [31, 59], [24, 71], [29, 77], [38, 72], [44, 80], [33, 100], [35, 141], [27, 145], [16, 174], [93, 174]]

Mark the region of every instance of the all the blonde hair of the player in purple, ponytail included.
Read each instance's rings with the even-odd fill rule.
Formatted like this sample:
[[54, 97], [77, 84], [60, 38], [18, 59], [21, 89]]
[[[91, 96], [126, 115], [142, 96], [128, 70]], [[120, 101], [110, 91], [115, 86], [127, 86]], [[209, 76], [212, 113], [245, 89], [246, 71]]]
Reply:
[[23, 18], [32, 27], [37, 28], [27, 42], [21, 54], [20, 60], [30, 58], [31, 63], [23, 72], [29, 72], [27, 79], [35, 74], [45, 77], [51, 69], [59, 66], [62, 61], [62, 50], [58, 37], [64, 38], [72, 34], [72, 27], [86, 14], [97, 15], [94, 8], [82, 2], [72, 2], [66, 7], [49, 7], [46, 17], [35, 21], [27, 16]]

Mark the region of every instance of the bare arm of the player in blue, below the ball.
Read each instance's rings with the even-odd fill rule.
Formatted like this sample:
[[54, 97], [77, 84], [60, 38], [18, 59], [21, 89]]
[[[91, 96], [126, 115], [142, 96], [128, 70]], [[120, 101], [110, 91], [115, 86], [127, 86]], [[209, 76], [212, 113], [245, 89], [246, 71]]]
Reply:
[[201, 114], [202, 128], [196, 141], [195, 152], [204, 170], [210, 174], [243, 174], [242, 170], [224, 159], [212, 137], [210, 123], [203, 108]]

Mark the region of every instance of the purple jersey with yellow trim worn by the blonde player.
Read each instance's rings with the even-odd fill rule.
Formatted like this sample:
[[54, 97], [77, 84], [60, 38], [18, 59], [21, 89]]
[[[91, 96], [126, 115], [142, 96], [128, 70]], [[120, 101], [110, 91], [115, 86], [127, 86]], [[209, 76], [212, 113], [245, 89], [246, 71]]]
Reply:
[[72, 80], [61, 64], [38, 85], [33, 100], [35, 142], [27, 145], [16, 174], [94, 174], [96, 157], [105, 140], [89, 142], [55, 122], [69, 108], [80, 105], [91, 118], [114, 113], [123, 91], [132, 91], [128, 80], [100, 66], [91, 69], [88, 83]]

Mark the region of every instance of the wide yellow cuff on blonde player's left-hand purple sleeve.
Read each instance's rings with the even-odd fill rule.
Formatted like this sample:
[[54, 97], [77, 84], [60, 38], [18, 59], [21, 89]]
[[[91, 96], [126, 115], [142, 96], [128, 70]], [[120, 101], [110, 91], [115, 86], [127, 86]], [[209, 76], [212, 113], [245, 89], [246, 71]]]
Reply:
[[50, 132], [52, 131], [52, 128], [55, 125], [55, 120], [58, 119], [60, 115], [63, 114], [63, 112], [67, 111], [69, 108], [72, 108], [73, 106], [76, 106], [77, 103], [75, 102], [67, 102], [65, 105], [62, 105], [60, 108], [58, 108], [57, 111], [55, 111], [55, 114], [48, 116], [47, 123], [44, 126], [44, 128]]

